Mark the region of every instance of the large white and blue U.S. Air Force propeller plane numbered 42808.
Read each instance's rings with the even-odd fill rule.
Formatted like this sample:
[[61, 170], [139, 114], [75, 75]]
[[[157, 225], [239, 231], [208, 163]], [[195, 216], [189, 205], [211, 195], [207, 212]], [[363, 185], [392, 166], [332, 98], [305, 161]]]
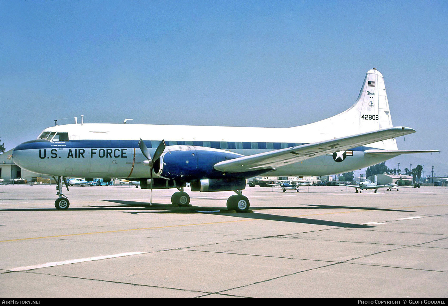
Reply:
[[[142, 189], [177, 188], [172, 204], [188, 205], [191, 191], [235, 191], [227, 208], [247, 212], [246, 178], [318, 176], [348, 172], [403, 153], [395, 137], [414, 133], [393, 127], [383, 75], [367, 72], [348, 110], [289, 128], [86, 123], [46, 128], [13, 151], [17, 165], [57, 180], [57, 209], [67, 209], [66, 177], [138, 180]], [[56, 178], [57, 177], [57, 178]]]

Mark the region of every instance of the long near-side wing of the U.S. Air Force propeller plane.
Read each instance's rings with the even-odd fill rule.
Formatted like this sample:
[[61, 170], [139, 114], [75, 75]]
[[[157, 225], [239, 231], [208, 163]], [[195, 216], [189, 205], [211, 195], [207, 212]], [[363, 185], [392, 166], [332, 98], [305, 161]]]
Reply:
[[218, 171], [229, 173], [274, 170], [277, 167], [304, 161], [312, 157], [333, 153], [335, 151], [348, 150], [364, 144], [371, 144], [411, 133], [415, 133], [415, 130], [409, 127], [390, 127], [375, 132], [367, 132], [311, 144], [302, 144], [296, 147], [238, 157], [228, 161], [220, 161], [215, 164], [214, 168]]

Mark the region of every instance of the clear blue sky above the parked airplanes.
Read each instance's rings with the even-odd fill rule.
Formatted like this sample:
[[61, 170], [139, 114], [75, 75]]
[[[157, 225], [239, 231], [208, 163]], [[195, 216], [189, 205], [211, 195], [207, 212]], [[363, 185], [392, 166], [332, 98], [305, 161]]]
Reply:
[[376, 67], [394, 125], [417, 130], [400, 149], [443, 151], [386, 164], [446, 175], [446, 16], [447, 1], [0, 0], [0, 137], [81, 115], [297, 126], [349, 108]]

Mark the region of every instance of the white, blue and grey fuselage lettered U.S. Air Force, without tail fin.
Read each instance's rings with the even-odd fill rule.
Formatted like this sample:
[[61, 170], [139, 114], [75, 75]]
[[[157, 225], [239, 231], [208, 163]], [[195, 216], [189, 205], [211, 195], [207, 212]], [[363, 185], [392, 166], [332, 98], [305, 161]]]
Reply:
[[[68, 133], [69, 140], [31, 140], [17, 146], [13, 158], [23, 168], [40, 174], [131, 179], [148, 177], [148, 168], [143, 164], [146, 158], [138, 148], [139, 138], [145, 141], [151, 154], [160, 140], [164, 139], [167, 146], [174, 150], [195, 147], [246, 156], [306, 144], [312, 142], [312, 137], [315, 141], [316, 136], [328, 138], [328, 135], [312, 135], [312, 131], [291, 135], [287, 130], [288, 128], [69, 124], [49, 127], [43, 132]], [[202, 136], [195, 136], [194, 132]], [[314, 157], [279, 167], [269, 172], [269, 175], [328, 175], [360, 169], [390, 158], [364, 154], [365, 150], [378, 149], [382, 145], [380, 142], [353, 148], [353, 154], [346, 154], [343, 160], [335, 159], [333, 155]], [[211, 163], [221, 160], [212, 160]]]

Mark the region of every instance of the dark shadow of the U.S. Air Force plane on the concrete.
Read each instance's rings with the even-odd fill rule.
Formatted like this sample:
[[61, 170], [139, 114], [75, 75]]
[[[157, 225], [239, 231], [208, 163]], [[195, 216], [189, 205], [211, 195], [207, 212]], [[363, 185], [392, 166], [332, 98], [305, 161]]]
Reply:
[[[89, 207], [80, 207], [80, 208], [69, 208], [70, 211], [92, 211], [92, 210], [132, 210], [132, 214], [141, 214], [141, 213], [205, 213], [205, 214], [214, 214], [220, 216], [231, 216], [231, 217], [239, 217], [239, 218], [248, 218], [248, 219], [261, 219], [261, 220], [271, 220], [271, 221], [282, 221], [282, 222], [293, 222], [293, 223], [302, 223], [302, 224], [315, 224], [315, 225], [327, 225], [327, 226], [337, 226], [337, 227], [352, 227], [352, 228], [372, 228], [375, 226], [372, 225], [362, 225], [362, 224], [353, 224], [353, 223], [345, 223], [345, 222], [336, 222], [336, 221], [326, 221], [319, 219], [310, 219], [310, 218], [302, 218], [302, 217], [288, 217], [288, 216], [279, 216], [279, 215], [271, 215], [266, 213], [260, 213], [258, 211], [269, 210], [269, 209], [293, 209], [293, 210], [301, 210], [301, 209], [355, 209], [355, 210], [372, 210], [372, 211], [390, 211], [390, 212], [412, 212], [409, 210], [400, 210], [400, 209], [385, 209], [385, 208], [376, 208], [376, 207], [356, 207], [356, 206], [335, 206], [335, 205], [317, 205], [317, 204], [304, 204], [304, 206], [296, 206], [296, 207], [251, 207], [250, 210], [254, 213], [246, 212], [246, 213], [236, 213], [233, 211], [228, 211], [222, 207], [200, 207], [200, 206], [176, 206], [172, 204], [161, 204], [161, 203], [152, 203], [150, 205], [148, 202], [137, 202], [137, 201], [126, 201], [126, 200], [103, 200], [105, 202], [112, 202], [121, 205], [92, 205]], [[141, 208], [141, 210], [138, 210]], [[50, 211], [55, 210], [55, 208], [14, 208], [14, 209], [0, 209], [0, 211]], [[138, 210], [138, 211], [136, 211]]]

